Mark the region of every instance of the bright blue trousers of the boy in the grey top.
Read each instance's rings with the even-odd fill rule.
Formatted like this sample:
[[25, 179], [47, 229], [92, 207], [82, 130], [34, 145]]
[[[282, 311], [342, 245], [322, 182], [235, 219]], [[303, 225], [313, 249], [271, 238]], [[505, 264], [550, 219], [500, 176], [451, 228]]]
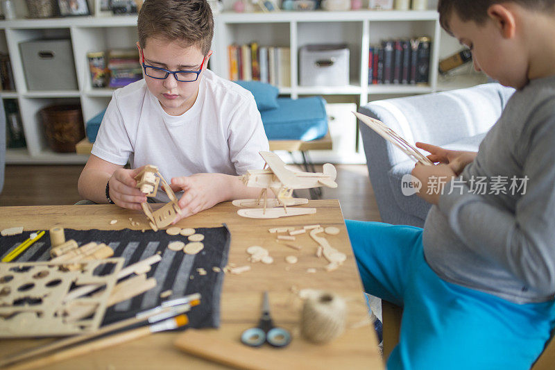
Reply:
[[366, 292], [404, 308], [388, 369], [529, 369], [543, 351], [554, 301], [520, 305], [447, 283], [425, 261], [421, 228], [346, 224]]

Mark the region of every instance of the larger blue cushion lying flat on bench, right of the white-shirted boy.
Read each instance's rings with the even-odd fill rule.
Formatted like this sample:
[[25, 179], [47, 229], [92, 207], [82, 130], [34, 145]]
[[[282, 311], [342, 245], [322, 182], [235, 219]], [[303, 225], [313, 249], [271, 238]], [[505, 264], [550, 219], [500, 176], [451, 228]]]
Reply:
[[280, 108], [260, 112], [268, 140], [315, 140], [327, 133], [325, 100], [321, 96], [278, 98]]

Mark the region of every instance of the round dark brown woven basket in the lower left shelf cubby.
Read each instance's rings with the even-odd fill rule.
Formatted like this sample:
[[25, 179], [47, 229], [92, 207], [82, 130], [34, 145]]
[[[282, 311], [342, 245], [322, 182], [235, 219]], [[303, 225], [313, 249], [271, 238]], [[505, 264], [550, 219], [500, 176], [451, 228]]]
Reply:
[[81, 106], [49, 106], [40, 110], [46, 140], [53, 151], [74, 153], [75, 144], [85, 137]]

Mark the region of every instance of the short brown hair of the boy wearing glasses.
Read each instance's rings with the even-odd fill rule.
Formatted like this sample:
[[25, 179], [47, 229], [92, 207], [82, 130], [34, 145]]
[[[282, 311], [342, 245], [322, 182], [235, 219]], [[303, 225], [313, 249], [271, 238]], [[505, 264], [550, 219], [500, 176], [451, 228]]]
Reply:
[[139, 45], [148, 37], [196, 45], [207, 55], [214, 37], [214, 18], [206, 0], [146, 0], [137, 21]]

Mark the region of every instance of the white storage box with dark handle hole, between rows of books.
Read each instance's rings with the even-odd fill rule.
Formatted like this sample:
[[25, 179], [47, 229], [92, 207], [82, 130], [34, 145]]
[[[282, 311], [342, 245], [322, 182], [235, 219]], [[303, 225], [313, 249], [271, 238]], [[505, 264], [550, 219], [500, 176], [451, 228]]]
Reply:
[[346, 44], [307, 45], [300, 48], [301, 86], [349, 85], [349, 49]]

